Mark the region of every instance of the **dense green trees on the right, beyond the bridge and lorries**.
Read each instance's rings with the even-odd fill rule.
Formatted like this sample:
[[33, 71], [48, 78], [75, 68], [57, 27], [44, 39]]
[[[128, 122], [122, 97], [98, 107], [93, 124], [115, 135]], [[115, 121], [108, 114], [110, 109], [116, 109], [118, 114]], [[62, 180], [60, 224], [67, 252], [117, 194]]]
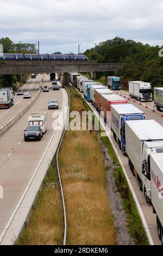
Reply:
[[96, 78], [117, 75], [121, 77], [123, 89], [128, 89], [128, 81], [151, 82], [152, 87], [163, 85], [163, 58], [159, 57], [159, 46], [142, 44], [133, 40], [115, 37], [100, 42], [96, 49], [84, 52], [89, 59], [98, 63], [124, 62], [126, 65], [116, 73], [97, 72]]

